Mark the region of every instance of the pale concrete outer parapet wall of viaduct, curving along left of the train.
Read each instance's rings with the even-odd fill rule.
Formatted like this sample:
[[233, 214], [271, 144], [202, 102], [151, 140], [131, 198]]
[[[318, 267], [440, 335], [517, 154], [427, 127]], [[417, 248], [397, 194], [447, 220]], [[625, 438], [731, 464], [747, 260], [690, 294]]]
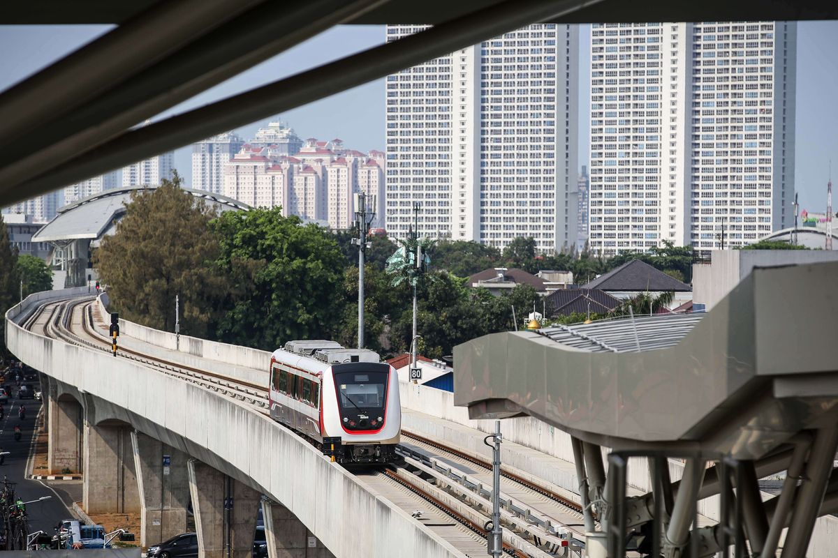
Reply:
[[[22, 310], [37, 300], [25, 300]], [[134, 361], [36, 335], [9, 317], [9, 350], [85, 393], [97, 421], [127, 422], [261, 490], [339, 558], [463, 556], [254, 408]]]

